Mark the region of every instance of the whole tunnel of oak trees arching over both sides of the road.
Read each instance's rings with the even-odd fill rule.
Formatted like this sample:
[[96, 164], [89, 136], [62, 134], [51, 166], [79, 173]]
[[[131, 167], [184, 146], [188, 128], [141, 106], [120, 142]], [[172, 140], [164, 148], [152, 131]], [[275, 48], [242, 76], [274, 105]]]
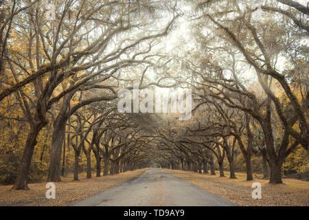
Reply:
[[[45, 1], [1, 5], [1, 162], [18, 166], [10, 175], [14, 189], [27, 189], [37, 162], [47, 165], [48, 181], [61, 181], [68, 157], [74, 179], [80, 158], [89, 178], [93, 162], [97, 176], [101, 168], [108, 175], [145, 166], [211, 174], [218, 166], [222, 176], [227, 163], [235, 178], [239, 153], [247, 180], [255, 156], [265, 176], [270, 168], [270, 182], [279, 184], [286, 158], [299, 148], [308, 151], [304, 5], [52, 3], [54, 20], [46, 17]], [[166, 52], [163, 42], [179, 16], [191, 33]], [[191, 120], [119, 113], [117, 91], [135, 83], [139, 89], [192, 89]]]

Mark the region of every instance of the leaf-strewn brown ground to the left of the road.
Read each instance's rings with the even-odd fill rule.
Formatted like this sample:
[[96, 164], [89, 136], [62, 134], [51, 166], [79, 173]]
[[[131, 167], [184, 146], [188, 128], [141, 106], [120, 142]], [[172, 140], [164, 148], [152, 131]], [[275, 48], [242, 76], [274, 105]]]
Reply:
[[148, 168], [91, 179], [86, 178], [86, 173], [80, 173], [78, 181], [73, 181], [73, 177], [68, 175], [61, 178], [62, 182], [56, 183], [56, 199], [46, 199], [46, 182], [28, 184], [30, 190], [11, 190], [12, 186], [0, 186], [0, 206], [67, 206], [97, 192], [119, 186], [146, 170]]

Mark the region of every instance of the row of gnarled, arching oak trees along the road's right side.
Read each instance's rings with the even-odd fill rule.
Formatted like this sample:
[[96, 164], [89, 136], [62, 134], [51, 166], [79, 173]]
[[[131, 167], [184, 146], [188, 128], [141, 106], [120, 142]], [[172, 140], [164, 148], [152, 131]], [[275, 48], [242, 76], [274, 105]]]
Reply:
[[[262, 6], [261, 6], [262, 5]], [[308, 153], [308, 8], [295, 1], [198, 1], [192, 5], [197, 51], [180, 58], [194, 90], [194, 120], [165, 131], [170, 164], [204, 170], [214, 158], [236, 178], [236, 151], [253, 179], [251, 157], [263, 159], [270, 183], [301, 147]], [[304, 151], [304, 152], [306, 152]], [[267, 165], [267, 164], [268, 165]], [[307, 167], [308, 157], [304, 166]]]

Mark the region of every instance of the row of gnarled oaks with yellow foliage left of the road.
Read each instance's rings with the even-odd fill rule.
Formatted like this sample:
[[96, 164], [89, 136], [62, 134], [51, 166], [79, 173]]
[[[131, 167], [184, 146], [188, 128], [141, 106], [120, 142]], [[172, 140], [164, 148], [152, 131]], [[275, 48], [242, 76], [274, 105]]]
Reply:
[[[51, 138], [48, 181], [60, 181], [68, 121], [67, 145], [76, 152], [76, 162], [81, 151], [87, 158], [93, 151], [98, 159], [106, 159], [113, 154], [125, 154], [121, 146], [128, 150], [133, 148], [131, 142], [137, 144], [136, 133], [132, 131], [116, 135], [122, 131], [117, 120], [124, 120], [117, 118], [119, 115], [111, 118], [111, 113], [86, 115], [81, 112], [93, 102], [115, 100], [119, 89], [132, 87], [127, 79], [148, 87], [146, 80], [143, 81], [143, 71], [154, 66], [157, 60], [151, 48], [168, 34], [176, 19], [173, 1], [59, 0], [50, 3], [56, 10], [54, 20], [46, 16], [47, 1], [14, 0], [1, 4], [1, 131], [9, 127], [17, 128], [17, 133], [27, 133], [26, 137], [16, 135], [14, 140], [14, 144], [23, 145], [14, 189], [27, 189], [38, 137], [46, 128], [45, 137]], [[168, 17], [168, 21], [154, 25], [153, 21], [163, 16]], [[106, 120], [117, 126], [106, 126]], [[98, 137], [88, 140], [90, 133]], [[11, 140], [14, 132], [8, 135]], [[87, 141], [88, 148], [84, 146]], [[99, 146], [102, 143], [105, 150]], [[1, 148], [5, 148], [5, 142], [2, 144]], [[98, 147], [94, 148], [95, 145]], [[115, 148], [115, 152], [110, 147]], [[12, 148], [16, 150], [16, 146]], [[132, 150], [130, 154], [136, 153]], [[112, 164], [118, 164], [119, 157], [115, 155], [116, 161]], [[108, 159], [104, 163], [107, 166]], [[74, 179], [77, 179], [76, 172]]]

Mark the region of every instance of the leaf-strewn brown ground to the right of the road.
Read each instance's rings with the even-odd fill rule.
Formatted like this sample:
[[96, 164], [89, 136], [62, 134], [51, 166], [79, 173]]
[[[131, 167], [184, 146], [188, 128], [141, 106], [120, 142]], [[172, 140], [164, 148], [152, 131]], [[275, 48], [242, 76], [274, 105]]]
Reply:
[[[240, 206], [309, 206], [309, 181], [284, 178], [284, 184], [268, 184], [267, 179], [254, 175], [253, 181], [246, 181], [245, 173], [236, 173], [237, 179], [216, 175], [195, 173], [192, 171], [162, 169], [176, 177], [191, 182], [208, 192], [238, 203]], [[252, 199], [251, 188], [254, 182], [262, 185], [262, 199]]]

